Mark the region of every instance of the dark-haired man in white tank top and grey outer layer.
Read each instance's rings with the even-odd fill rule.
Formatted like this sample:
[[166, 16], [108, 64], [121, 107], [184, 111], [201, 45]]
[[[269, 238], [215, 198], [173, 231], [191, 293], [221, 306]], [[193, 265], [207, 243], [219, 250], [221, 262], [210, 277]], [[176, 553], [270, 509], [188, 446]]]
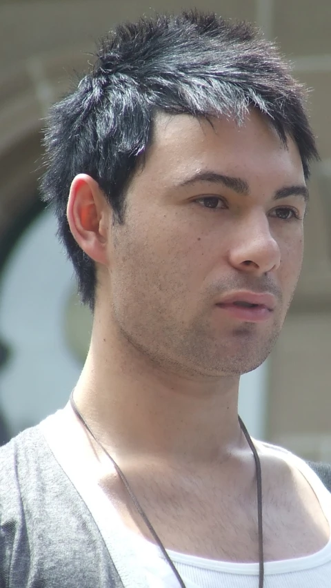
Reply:
[[330, 587], [328, 469], [237, 413], [303, 255], [317, 149], [287, 66], [213, 14], [120, 26], [46, 153], [94, 322], [66, 408], [1, 449], [1, 586]]

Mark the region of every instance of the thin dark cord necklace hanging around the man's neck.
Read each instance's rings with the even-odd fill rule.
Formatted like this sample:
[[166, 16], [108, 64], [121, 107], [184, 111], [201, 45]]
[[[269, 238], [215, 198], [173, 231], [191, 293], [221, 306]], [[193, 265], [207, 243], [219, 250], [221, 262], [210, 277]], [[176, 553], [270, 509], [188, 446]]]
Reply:
[[[137, 498], [134, 496], [134, 493], [130, 487], [130, 484], [128, 482], [128, 480], [126, 479], [126, 476], [124, 476], [123, 472], [121, 471], [121, 469], [119, 468], [119, 466], [117, 465], [117, 463], [114, 461], [114, 459], [112, 458], [112, 456], [110, 455], [110, 453], [108, 453], [108, 451], [103, 447], [103, 445], [101, 444], [101, 442], [97, 439], [97, 437], [94, 435], [93, 431], [90, 429], [88, 423], [86, 422], [86, 420], [83, 418], [83, 415], [81, 415], [81, 413], [79, 412], [79, 409], [77, 408], [77, 404], [74, 402], [74, 391], [72, 391], [71, 395], [70, 395], [70, 404], [72, 406], [72, 409], [74, 411], [74, 413], [77, 415], [77, 417], [79, 418], [79, 420], [83, 423], [84, 427], [86, 427], [86, 429], [88, 430], [88, 432], [90, 433], [91, 437], [94, 439], [95, 442], [97, 442], [97, 444], [99, 445], [99, 447], [101, 447], [101, 449], [103, 450], [104, 453], [106, 453], [106, 455], [108, 455], [108, 458], [110, 459], [110, 461], [112, 462], [114, 468], [116, 469], [119, 477], [121, 478], [124, 486], [126, 487], [126, 491], [128, 492], [128, 495], [130, 496], [134, 507], [136, 508], [137, 512], [139, 513], [139, 515], [141, 516], [141, 518], [143, 519], [143, 521], [146, 524], [146, 527], [148, 527], [152, 537], [154, 538], [155, 542], [157, 543], [157, 545], [159, 546], [159, 548], [161, 549], [163, 556], [165, 558], [165, 560], [168, 562], [168, 564], [170, 565], [174, 575], [176, 576], [178, 582], [179, 582], [179, 586], [181, 588], [186, 588], [185, 584], [179, 574], [179, 572], [177, 571], [176, 567], [174, 566], [174, 563], [172, 562], [172, 560], [170, 559], [170, 557], [168, 556], [168, 553], [165, 549], [165, 547], [163, 546], [163, 543], [161, 542], [161, 539], [159, 538], [159, 536], [157, 535], [157, 532], [154, 531], [154, 528], [152, 527], [152, 524], [150, 523], [150, 520], [148, 520], [148, 517], [146, 515], [146, 513], [143, 511], [141, 505], [139, 504]], [[264, 580], [264, 558], [263, 558], [263, 528], [262, 528], [262, 480], [261, 480], [261, 463], [260, 463], [260, 459], [259, 459], [259, 455], [257, 453], [257, 450], [254, 447], [254, 444], [252, 442], [252, 439], [250, 438], [250, 434], [248, 433], [248, 430], [246, 429], [245, 425], [243, 424], [243, 421], [241, 420], [240, 417], [239, 418], [239, 424], [241, 427], [241, 431], [243, 431], [243, 434], [245, 435], [245, 438], [250, 446], [250, 449], [252, 449], [252, 453], [254, 455], [254, 460], [255, 460], [255, 467], [256, 467], [256, 471], [257, 471], [257, 525], [258, 525], [258, 533], [259, 533], [259, 588], [263, 588], [263, 580]]]

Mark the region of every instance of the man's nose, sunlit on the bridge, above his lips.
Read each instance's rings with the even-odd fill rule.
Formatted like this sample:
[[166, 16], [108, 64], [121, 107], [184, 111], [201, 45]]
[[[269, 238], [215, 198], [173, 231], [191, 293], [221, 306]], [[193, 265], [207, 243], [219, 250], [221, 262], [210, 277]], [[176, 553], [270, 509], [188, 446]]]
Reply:
[[245, 273], [263, 275], [279, 268], [281, 251], [264, 211], [241, 219], [228, 255], [230, 264]]

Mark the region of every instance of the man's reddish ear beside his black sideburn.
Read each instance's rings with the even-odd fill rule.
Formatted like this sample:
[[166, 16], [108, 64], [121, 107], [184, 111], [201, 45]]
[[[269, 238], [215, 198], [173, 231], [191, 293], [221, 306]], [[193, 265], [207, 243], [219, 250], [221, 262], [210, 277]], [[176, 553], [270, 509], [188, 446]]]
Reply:
[[70, 231], [94, 262], [106, 265], [111, 209], [99, 184], [87, 174], [72, 180], [67, 206]]

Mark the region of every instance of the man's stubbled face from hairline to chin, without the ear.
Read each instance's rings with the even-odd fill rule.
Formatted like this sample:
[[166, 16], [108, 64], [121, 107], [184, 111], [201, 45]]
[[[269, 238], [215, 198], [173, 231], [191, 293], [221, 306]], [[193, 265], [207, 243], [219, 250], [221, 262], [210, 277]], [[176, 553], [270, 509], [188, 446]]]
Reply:
[[[306, 204], [292, 139], [284, 148], [254, 111], [243, 126], [211, 123], [159, 115], [125, 223], [114, 228], [103, 295], [121, 333], [153, 360], [217, 376], [254, 369], [277, 340], [301, 268]], [[248, 310], [247, 293], [272, 296]], [[228, 295], [237, 301], [225, 304]]]

